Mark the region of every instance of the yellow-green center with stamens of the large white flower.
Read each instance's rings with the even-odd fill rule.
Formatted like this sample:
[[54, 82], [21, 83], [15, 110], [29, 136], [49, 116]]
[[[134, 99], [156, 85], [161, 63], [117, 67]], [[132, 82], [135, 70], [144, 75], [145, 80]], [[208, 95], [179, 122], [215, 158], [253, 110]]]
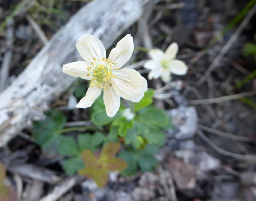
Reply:
[[107, 85], [111, 86], [112, 79], [116, 76], [113, 75], [113, 71], [119, 70], [119, 68], [113, 67], [116, 63], [113, 63], [110, 59], [102, 58], [101, 60], [93, 58], [92, 65], [94, 69], [88, 67], [88, 71], [93, 72], [93, 78], [89, 87], [96, 86], [98, 88], [106, 88]]

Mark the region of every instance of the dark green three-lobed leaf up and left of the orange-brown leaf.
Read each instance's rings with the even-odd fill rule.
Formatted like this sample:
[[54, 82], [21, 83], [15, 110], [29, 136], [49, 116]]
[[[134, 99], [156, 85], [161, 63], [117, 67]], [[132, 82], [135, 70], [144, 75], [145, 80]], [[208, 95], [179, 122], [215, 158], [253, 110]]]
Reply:
[[74, 175], [78, 170], [84, 168], [82, 161], [82, 151], [95, 150], [103, 143], [105, 139], [104, 134], [96, 132], [91, 134], [80, 134], [77, 138], [77, 142], [73, 137], [62, 136], [58, 145], [58, 152], [63, 156], [69, 156], [70, 158], [63, 161], [62, 166], [68, 175]]

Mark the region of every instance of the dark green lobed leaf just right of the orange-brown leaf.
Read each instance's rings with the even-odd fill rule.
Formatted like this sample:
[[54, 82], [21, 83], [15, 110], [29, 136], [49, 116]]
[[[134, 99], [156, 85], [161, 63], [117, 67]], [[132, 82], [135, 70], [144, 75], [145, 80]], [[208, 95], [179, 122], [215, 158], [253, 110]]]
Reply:
[[138, 150], [122, 150], [118, 157], [128, 163], [128, 167], [121, 172], [123, 176], [131, 176], [136, 174], [138, 167], [142, 171], [151, 171], [158, 164], [154, 155], [158, 148], [155, 145], [146, 145], [144, 149]]

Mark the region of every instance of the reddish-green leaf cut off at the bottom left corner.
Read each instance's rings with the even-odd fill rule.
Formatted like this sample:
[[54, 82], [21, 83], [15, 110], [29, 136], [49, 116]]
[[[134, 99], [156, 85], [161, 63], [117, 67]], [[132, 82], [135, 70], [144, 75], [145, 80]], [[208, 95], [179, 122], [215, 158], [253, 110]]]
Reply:
[[6, 169], [0, 162], [0, 201], [16, 201], [17, 193], [12, 187], [7, 187], [4, 184], [6, 178]]

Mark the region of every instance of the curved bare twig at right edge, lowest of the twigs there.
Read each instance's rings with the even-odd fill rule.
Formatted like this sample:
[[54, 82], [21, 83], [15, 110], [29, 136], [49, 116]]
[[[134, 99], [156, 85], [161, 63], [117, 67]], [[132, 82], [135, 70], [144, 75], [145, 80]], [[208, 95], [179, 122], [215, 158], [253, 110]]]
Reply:
[[205, 136], [205, 134], [201, 130], [198, 129], [197, 133], [208, 145], [210, 145], [210, 147], [212, 147], [219, 154], [222, 154], [224, 156], [229, 156], [229, 157], [232, 157], [232, 158], [236, 158], [236, 159], [239, 159], [239, 160], [256, 161], [256, 156], [241, 155], [241, 154], [236, 154], [236, 153], [232, 153], [232, 152], [229, 152], [229, 151], [225, 151], [225, 150], [219, 148], [216, 144], [214, 144], [208, 137]]

